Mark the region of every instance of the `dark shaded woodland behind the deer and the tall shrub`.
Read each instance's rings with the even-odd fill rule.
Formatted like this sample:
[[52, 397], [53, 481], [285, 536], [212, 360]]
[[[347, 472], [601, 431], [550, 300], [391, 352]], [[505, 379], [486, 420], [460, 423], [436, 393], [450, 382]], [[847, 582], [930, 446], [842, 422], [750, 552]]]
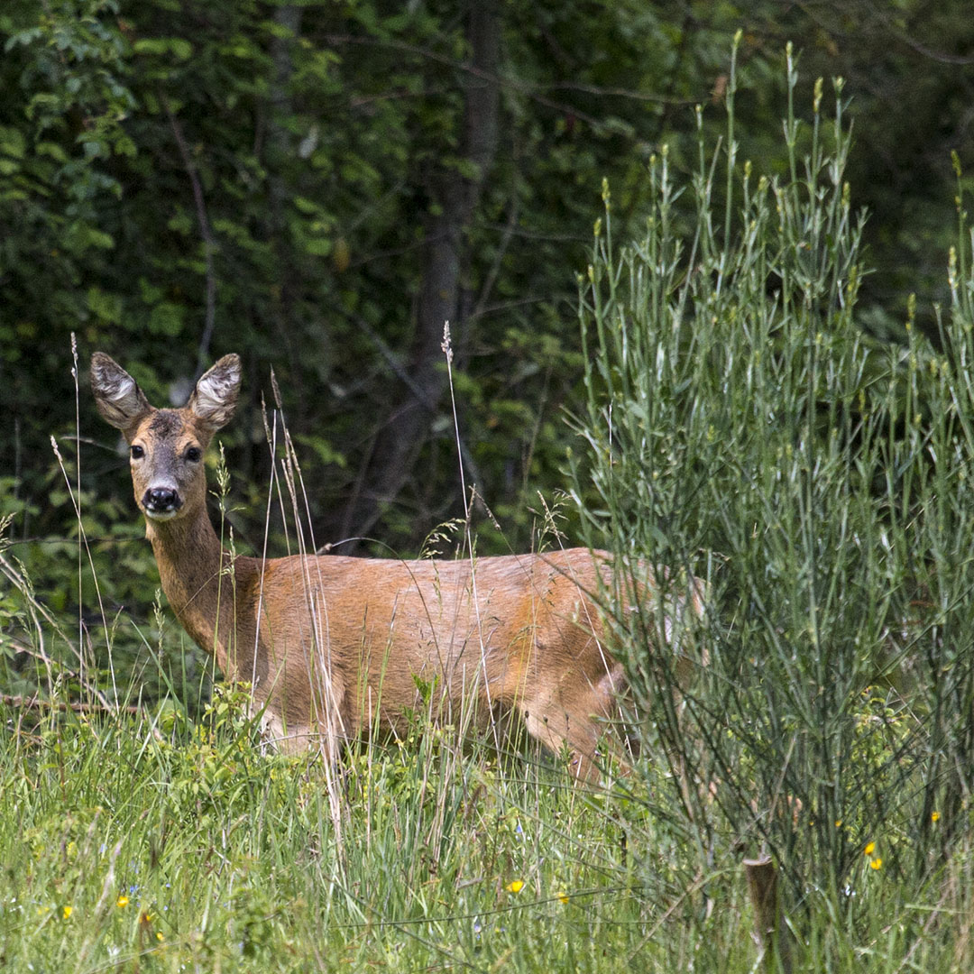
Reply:
[[316, 543], [408, 554], [465, 509], [448, 319], [466, 482], [502, 528], [479, 508], [480, 550], [533, 543], [538, 492], [564, 479], [603, 179], [624, 241], [649, 158], [665, 144], [689, 174], [698, 127], [724, 130], [738, 29], [738, 158], [784, 170], [786, 42], [799, 113], [816, 78], [842, 76], [850, 192], [870, 214], [861, 324], [898, 340], [909, 289], [932, 328], [952, 152], [974, 165], [964, 0], [6, 0], [0, 514], [38, 588], [81, 598], [76, 423], [110, 601], [156, 584], [128, 464], [88, 393], [94, 350], [156, 404], [243, 356], [222, 433], [239, 544], [264, 534], [273, 369]]

